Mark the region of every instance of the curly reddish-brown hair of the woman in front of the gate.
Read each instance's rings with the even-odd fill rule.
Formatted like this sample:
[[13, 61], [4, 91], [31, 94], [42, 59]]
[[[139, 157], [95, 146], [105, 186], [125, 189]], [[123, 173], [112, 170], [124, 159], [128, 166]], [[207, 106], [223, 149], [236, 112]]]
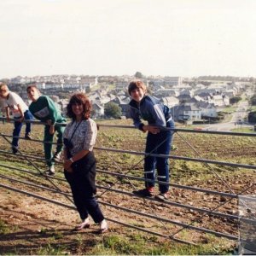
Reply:
[[84, 119], [89, 119], [92, 105], [88, 96], [86, 96], [84, 93], [75, 93], [73, 96], [71, 96], [69, 103], [67, 104], [67, 116], [73, 120], [76, 119], [76, 116], [72, 111], [72, 105], [76, 103], [83, 105], [83, 117]]

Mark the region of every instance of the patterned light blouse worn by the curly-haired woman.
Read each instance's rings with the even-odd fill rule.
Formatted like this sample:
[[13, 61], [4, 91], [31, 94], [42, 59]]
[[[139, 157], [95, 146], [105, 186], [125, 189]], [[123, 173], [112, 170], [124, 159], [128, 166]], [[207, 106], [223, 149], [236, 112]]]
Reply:
[[70, 149], [70, 153], [72, 155], [78, 154], [79, 151], [83, 149], [92, 151], [93, 146], [96, 143], [96, 136], [96, 122], [92, 119], [82, 120], [81, 122], [73, 121], [69, 123], [63, 134], [63, 137], [68, 140], [72, 137], [71, 143], [73, 144], [73, 148]]

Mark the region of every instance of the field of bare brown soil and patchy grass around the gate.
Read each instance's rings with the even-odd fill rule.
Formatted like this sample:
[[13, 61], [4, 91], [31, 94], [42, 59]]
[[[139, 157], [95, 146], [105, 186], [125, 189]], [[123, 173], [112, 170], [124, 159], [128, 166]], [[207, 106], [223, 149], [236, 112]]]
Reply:
[[[145, 134], [135, 129], [109, 128], [103, 125], [131, 125], [131, 120], [109, 120], [98, 121], [100, 130], [97, 137], [97, 148], [113, 148], [143, 152]], [[3, 134], [11, 134], [12, 125], [1, 126]], [[34, 139], [42, 140], [43, 126], [34, 125], [32, 135]], [[9, 151], [9, 144], [0, 138], [0, 149]], [[20, 149], [25, 154], [43, 158], [43, 145], [41, 143], [20, 140]], [[178, 132], [174, 136], [173, 156], [189, 158], [218, 160], [246, 165], [256, 165], [255, 137], [236, 137], [223, 135], [210, 135], [200, 133]], [[144, 201], [131, 195], [120, 194], [110, 191], [108, 188], [123, 192], [131, 192], [133, 189], [143, 188], [143, 182], [129, 178], [118, 178], [114, 173], [125, 173], [132, 177], [143, 176], [143, 156], [129, 154], [129, 152], [111, 152], [110, 150], [95, 150], [97, 160], [97, 184], [102, 186], [98, 193], [100, 201], [112, 206], [125, 207], [131, 211], [156, 214], [160, 218], [168, 218], [183, 224], [195, 222], [193, 225], [217, 232], [224, 232], [238, 236], [238, 224], [225, 218], [215, 218], [204, 215], [201, 212], [187, 210], [181, 207], [168, 205], [157, 201]], [[24, 170], [32, 170], [32, 163], [20, 160], [13, 154], [0, 154], [0, 164], [13, 166]], [[43, 161], [33, 160], [40, 170], [44, 170]], [[63, 178], [61, 164], [56, 166], [56, 177]], [[178, 185], [186, 185], [201, 189], [216, 190], [225, 193], [240, 193], [243, 189], [251, 187], [246, 194], [255, 194], [255, 171], [238, 167], [224, 165], [210, 165], [190, 160], [170, 160], [171, 182]], [[32, 176], [30, 173], [20, 172], [9, 167], [0, 166], [0, 174], [14, 177], [20, 181], [29, 181], [52, 188], [49, 181], [42, 176]], [[1, 183], [15, 185], [18, 188], [26, 188], [32, 193], [40, 195], [51, 194], [44, 189], [26, 187], [16, 182], [2, 179]], [[61, 190], [68, 191], [65, 181], [59, 180], [55, 183]], [[3, 207], [0, 219], [0, 233], [3, 245], [0, 246], [1, 254], [226, 254], [234, 252], [237, 241], [219, 238], [210, 234], [196, 232], [195, 230], [180, 230], [174, 224], [162, 224], [154, 218], [146, 218], [131, 212], [125, 212], [113, 207], [102, 205], [106, 216], [125, 224], [130, 224], [143, 229], [152, 230], [165, 236], [170, 236], [180, 230], [175, 236], [177, 239], [189, 241], [195, 245], [184, 245], [169, 238], [162, 238], [119, 224], [110, 223], [108, 234], [99, 236], [93, 230], [82, 233], [67, 232], [67, 225], [73, 225], [77, 213], [69, 209], [53, 207], [43, 201], [28, 199], [27, 196], [17, 195], [15, 192], [3, 190], [1, 193]], [[54, 199], [67, 203], [67, 199], [61, 195], [55, 195]], [[191, 191], [188, 189], [177, 189], [171, 186], [170, 201], [189, 205], [214, 209], [220, 202], [227, 201], [218, 195], [208, 195]], [[219, 212], [235, 214], [237, 212], [237, 201], [233, 200], [219, 207]], [[29, 207], [30, 206], [30, 207]], [[20, 209], [20, 210], [19, 210]], [[22, 212], [26, 217], [21, 216]], [[65, 214], [63, 214], [63, 212]], [[19, 213], [19, 214], [18, 214]], [[64, 216], [63, 216], [64, 215]], [[13, 216], [12, 218], [9, 218]], [[41, 221], [50, 224], [42, 224]], [[18, 221], [19, 220], [19, 221]], [[28, 221], [31, 220], [31, 221]], [[196, 221], [195, 221], [196, 220]], [[40, 221], [40, 224], [38, 224]], [[19, 247], [18, 235], [27, 231], [27, 236], [32, 236], [31, 243], [27, 247]], [[38, 231], [39, 230], [39, 231]], [[34, 237], [34, 239], [33, 239]], [[24, 240], [26, 237], [24, 237]], [[13, 249], [7, 246], [11, 240]]]

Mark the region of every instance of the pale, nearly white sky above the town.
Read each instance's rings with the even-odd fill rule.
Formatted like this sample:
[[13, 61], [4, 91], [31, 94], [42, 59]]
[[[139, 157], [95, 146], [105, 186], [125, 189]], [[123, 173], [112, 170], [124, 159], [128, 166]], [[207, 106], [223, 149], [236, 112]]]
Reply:
[[256, 77], [255, 0], [0, 0], [0, 79]]

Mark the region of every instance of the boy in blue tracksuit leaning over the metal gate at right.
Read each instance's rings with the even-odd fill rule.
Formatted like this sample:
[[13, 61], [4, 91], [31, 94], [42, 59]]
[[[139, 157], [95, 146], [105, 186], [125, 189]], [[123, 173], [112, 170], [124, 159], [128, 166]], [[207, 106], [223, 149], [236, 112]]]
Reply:
[[[172, 115], [168, 107], [154, 96], [147, 96], [147, 89], [142, 81], [133, 81], [128, 86], [131, 96], [130, 113], [134, 125], [141, 131], [148, 131], [146, 153], [169, 154], [172, 144], [173, 131], [163, 131], [161, 128], [174, 128]], [[145, 125], [141, 119], [148, 121]], [[153, 196], [154, 179], [157, 169], [158, 180], [169, 183], [169, 160], [154, 156], [146, 156], [144, 161], [144, 176], [151, 181], [145, 182], [145, 189], [134, 191], [133, 193], [141, 196]], [[168, 198], [168, 184], [159, 184], [160, 194], [155, 197], [161, 201]]]

